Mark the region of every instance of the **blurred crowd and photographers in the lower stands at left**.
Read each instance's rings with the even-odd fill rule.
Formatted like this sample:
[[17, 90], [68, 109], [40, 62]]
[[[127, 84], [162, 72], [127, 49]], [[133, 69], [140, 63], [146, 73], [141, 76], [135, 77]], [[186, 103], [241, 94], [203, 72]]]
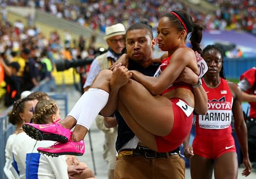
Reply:
[[31, 90], [44, 79], [50, 80], [50, 91], [54, 91], [52, 72], [56, 60], [86, 58], [95, 52], [95, 36], [87, 48], [82, 36], [61, 41], [57, 31], [46, 37], [36, 27], [25, 27], [19, 20], [14, 24], [1, 21], [0, 42], [1, 77], [5, 73], [5, 82], [0, 83], [1, 89], [5, 89], [6, 107], [19, 99], [22, 91]]

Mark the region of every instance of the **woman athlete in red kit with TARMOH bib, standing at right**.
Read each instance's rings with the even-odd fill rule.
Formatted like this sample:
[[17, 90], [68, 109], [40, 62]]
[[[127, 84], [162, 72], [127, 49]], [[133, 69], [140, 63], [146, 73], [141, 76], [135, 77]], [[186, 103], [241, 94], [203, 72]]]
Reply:
[[[251, 164], [248, 157], [247, 129], [243, 119], [238, 86], [225, 80], [223, 54], [216, 45], [208, 45], [203, 50], [203, 59], [208, 71], [203, 77], [203, 87], [208, 97], [208, 112], [196, 116], [196, 137], [193, 147], [184, 144], [184, 154], [190, 160], [191, 178], [237, 178], [238, 159], [234, 139], [231, 135], [231, 115], [243, 153], [245, 169], [242, 175], [249, 175]], [[213, 170], [214, 169], [214, 170]]]

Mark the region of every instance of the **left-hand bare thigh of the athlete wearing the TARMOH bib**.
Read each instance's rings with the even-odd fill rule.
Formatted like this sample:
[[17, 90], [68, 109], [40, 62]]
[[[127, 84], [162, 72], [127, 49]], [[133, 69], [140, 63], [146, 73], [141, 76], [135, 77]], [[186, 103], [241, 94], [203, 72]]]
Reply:
[[198, 155], [194, 155], [190, 159], [190, 174], [192, 179], [211, 179], [213, 169], [213, 159], [206, 159]]

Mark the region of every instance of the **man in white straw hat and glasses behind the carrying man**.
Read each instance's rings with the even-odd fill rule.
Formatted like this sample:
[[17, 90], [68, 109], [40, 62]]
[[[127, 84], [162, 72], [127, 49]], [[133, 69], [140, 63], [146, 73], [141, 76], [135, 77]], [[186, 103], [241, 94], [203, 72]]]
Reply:
[[[121, 23], [106, 27], [106, 34], [104, 39], [109, 45], [108, 52], [96, 57], [92, 62], [86, 83], [83, 86], [84, 91], [89, 89], [94, 78], [100, 70], [108, 69], [108, 67], [113, 65], [115, 61], [121, 56], [122, 50], [125, 47], [124, 35], [125, 28]], [[104, 120], [108, 121], [108, 127], [111, 128], [105, 126]], [[111, 125], [109, 125], [109, 123]], [[114, 168], [116, 163], [115, 141], [117, 137], [116, 127], [112, 126], [116, 126], [117, 122], [115, 117], [103, 117], [98, 115], [96, 118], [96, 124], [98, 128], [105, 134], [103, 158], [108, 163], [109, 179], [111, 179], [114, 178]]]

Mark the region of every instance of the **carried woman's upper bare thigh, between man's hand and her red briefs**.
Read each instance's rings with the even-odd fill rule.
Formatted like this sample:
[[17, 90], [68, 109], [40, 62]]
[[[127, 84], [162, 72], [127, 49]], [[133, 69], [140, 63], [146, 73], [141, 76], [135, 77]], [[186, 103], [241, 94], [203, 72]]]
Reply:
[[174, 123], [173, 106], [169, 99], [153, 96], [143, 85], [130, 80], [119, 89], [119, 99], [132, 117], [147, 131], [166, 136]]

